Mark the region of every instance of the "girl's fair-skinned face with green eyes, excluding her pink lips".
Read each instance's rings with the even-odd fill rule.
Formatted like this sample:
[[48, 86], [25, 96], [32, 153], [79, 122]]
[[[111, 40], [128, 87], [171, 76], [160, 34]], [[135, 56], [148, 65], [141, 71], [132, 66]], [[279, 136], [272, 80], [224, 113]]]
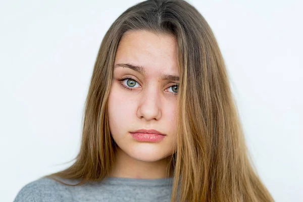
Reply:
[[[173, 80], [179, 77], [174, 37], [128, 31], [120, 40], [114, 65], [108, 113], [110, 131], [120, 150], [144, 162], [172, 155], [179, 82]], [[140, 129], [154, 129], [165, 136], [156, 142], [140, 141], [131, 133]]]

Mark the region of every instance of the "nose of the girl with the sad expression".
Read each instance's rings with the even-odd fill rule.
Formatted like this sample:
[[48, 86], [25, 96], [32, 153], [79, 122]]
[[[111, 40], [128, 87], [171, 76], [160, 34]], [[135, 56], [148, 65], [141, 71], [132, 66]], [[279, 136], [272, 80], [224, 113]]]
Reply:
[[145, 90], [141, 94], [137, 116], [146, 121], [161, 118], [161, 94], [158, 89]]

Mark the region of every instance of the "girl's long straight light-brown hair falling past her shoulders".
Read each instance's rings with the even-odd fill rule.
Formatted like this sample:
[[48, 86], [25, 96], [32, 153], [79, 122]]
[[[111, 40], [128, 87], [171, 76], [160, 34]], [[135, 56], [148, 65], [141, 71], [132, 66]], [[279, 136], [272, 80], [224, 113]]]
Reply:
[[174, 178], [171, 201], [273, 201], [245, 146], [215, 36], [204, 17], [182, 0], [141, 2], [112, 24], [94, 64], [76, 161], [44, 177], [63, 184], [57, 177], [80, 179], [77, 186], [109, 175], [117, 146], [109, 130], [108, 97], [116, 49], [129, 30], [170, 34], [177, 41], [180, 87], [177, 150], [169, 170]]

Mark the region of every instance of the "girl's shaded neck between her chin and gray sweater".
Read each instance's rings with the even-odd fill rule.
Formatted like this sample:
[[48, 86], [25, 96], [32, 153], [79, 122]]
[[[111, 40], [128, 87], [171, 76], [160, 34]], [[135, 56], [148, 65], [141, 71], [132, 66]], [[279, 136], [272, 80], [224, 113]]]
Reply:
[[119, 147], [115, 153], [115, 162], [109, 177], [158, 179], [172, 177], [167, 174], [170, 157], [156, 162], [144, 162], [131, 158]]

